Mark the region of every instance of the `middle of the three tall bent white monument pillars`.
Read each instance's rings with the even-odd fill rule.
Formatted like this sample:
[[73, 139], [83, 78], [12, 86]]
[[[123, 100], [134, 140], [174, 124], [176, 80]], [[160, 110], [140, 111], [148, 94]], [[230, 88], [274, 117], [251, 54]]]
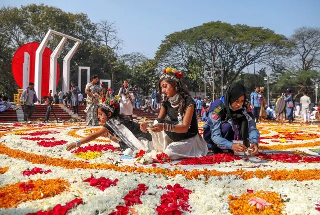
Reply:
[[53, 51], [50, 56], [50, 78], [49, 78], [49, 90], [52, 90], [52, 95], [56, 94], [57, 91], [57, 62], [58, 56], [67, 41], [66, 37], [63, 37], [59, 45]]

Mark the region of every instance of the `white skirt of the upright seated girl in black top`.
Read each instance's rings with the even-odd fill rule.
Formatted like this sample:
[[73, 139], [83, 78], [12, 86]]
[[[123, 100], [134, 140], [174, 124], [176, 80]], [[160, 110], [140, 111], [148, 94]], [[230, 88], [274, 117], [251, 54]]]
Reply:
[[[154, 124], [157, 123], [158, 121], [155, 120]], [[151, 136], [154, 149], [166, 153], [172, 160], [202, 157], [208, 153], [207, 143], [200, 135], [177, 142], [173, 142], [164, 131], [151, 131]]]

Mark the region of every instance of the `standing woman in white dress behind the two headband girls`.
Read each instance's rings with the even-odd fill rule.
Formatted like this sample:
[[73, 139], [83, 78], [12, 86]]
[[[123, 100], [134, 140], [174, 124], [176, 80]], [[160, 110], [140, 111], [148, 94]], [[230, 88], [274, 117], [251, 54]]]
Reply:
[[128, 81], [125, 80], [123, 82], [123, 86], [120, 88], [118, 96], [120, 103], [120, 115], [132, 120], [134, 95], [129, 92]]

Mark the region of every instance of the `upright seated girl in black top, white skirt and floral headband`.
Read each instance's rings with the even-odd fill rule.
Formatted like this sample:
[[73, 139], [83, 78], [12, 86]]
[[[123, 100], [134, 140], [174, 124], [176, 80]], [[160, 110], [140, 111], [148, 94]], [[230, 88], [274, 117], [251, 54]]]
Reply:
[[[181, 82], [182, 72], [167, 68], [159, 80], [162, 103], [158, 119], [150, 127], [154, 149], [166, 153], [170, 159], [201, 157], [207, 154], [206, 142], [199, 135], [195, 103]], [[140, 129], [146, 132], [148, 123]]]

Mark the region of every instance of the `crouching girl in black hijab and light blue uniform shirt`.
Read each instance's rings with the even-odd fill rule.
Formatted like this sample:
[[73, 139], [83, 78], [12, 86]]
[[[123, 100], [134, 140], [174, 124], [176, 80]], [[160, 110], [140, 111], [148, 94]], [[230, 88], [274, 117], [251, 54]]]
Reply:
[[[259, 131], [252, 113], [247, 112], [246, 88], [238, 83], [231, 84], [224, 96], [215, 100], [209, 111], [208, 120], [203, 127], [203, 138], [214, 153], [224, 150], [258, 152]], [[234, 143], [233, 140], [241, 140]]]

